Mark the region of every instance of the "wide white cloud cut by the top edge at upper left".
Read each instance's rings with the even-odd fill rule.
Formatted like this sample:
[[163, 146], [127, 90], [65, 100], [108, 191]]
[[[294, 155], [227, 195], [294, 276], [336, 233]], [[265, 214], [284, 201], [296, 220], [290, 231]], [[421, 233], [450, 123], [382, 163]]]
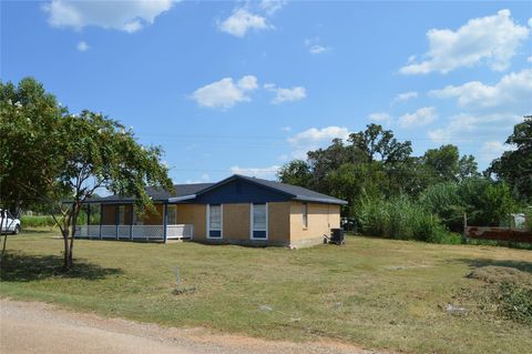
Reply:
[[42, 8], [52, 27], [73, 28], [95, 26], [129, 33], [152, 24], [161, 13], [168, 11], [173, 0], [131, 1], [66, 1], [52, 0]]

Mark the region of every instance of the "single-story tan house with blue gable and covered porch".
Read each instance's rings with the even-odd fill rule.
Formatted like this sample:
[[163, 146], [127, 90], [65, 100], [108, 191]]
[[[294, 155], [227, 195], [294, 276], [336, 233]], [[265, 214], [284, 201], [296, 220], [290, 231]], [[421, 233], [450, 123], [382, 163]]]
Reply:
[[147, 189], [155, 213], [137, 215], [134, 199], [119, 195], [86, 203], [88, 225], [76, 237], [299, 247], [323, 243], [340, 227], [347, 202], [305, 188], [244, 175], [218, 183]]

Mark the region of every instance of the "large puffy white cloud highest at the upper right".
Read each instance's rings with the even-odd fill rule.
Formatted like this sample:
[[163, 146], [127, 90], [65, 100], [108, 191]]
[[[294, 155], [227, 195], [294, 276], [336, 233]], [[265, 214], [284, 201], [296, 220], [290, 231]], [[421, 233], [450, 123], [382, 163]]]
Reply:
[[403, 74], [448, 73], [461, 67], [485, 62], [492, 70], [507, 70], [516, 49], [526, 40], [530, 30], [511, 19], [510, 10], [494, 16], [471, 19], [457, 31], [431, 29], [427, 32], [429, 51], [421, 62], [409, 60]]

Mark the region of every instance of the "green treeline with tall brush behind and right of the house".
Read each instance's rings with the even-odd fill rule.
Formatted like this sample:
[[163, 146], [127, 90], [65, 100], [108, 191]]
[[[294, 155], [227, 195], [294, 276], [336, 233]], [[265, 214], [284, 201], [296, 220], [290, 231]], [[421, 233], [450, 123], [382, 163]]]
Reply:
[[332, 140], [278, 172], [284, 183], [301, 185], [349, 202], [342, 215], [366, 234], [391, 239], [451, 242], [463, 215], [471, 225], [508, 224], [510, 213], [532, 201], [532, 118], [508, 139], [513, 150], [480, 173], [472, 155], [456, 145], [412, 155], [410, 141], [369, 124], [347, 141]]

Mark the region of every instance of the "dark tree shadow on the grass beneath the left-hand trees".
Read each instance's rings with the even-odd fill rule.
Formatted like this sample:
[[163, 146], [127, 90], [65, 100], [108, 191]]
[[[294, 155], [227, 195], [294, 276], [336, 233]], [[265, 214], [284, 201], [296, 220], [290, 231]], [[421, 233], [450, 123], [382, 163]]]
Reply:
[[72, 270], [61, 270], [63, 259], [57, 255], [33, 255], [23, 253], [7, 253], [2, 259], [0, 281], [32, 282], [48, 277], [100, 280], [109, 275], [121, 274], [122, 270], [102, 267], [74, 259]]

